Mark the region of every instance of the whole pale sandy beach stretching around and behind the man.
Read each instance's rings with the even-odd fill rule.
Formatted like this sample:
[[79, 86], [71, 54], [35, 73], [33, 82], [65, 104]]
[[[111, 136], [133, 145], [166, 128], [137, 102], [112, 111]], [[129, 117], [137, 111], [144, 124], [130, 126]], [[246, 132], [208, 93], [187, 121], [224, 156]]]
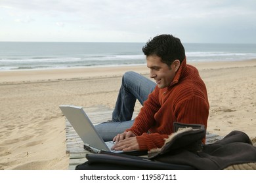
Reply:
[[[207, 131], [244, 131], [255, 145], [256, 59], [191, 65], [207, 86]], [[114, 108], [125, 71], [148, 76], [146, 65], [0, 72], [0, 169], [68, 169], [58, 105]]]

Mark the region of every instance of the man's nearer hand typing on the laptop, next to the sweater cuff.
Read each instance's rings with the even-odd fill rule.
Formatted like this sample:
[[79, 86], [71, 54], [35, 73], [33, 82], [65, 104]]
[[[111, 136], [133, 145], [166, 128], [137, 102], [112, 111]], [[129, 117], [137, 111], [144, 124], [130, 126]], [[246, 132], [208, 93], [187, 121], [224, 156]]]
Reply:
[[139, 144], [136, 137], [129, 137], [127, 139], [116, 142], [112, 149], [123, 151], [139, 150]]

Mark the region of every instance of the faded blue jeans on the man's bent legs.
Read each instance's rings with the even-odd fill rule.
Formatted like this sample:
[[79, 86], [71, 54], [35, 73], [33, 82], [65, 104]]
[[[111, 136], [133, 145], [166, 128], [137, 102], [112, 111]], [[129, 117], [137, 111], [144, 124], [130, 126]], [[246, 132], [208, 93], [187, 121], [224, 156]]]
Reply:
[[112, 122], [95, 125], [104, 141], [112, 141], [118, 133], [123, 133], [133, 125], [132, 120], [136, 100], [143, 105], [148, 95], [153, 92], [156, 83], [135, 72], [123, 75], [116, 106], [112, 113]]

